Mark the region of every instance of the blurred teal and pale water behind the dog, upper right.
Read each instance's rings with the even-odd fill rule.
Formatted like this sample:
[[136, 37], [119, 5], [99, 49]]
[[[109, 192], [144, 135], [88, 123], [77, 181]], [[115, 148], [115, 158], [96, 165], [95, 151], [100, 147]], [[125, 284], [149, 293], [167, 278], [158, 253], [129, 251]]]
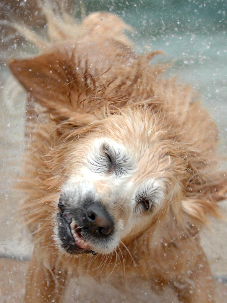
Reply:
[[226, 0], [84, 1], [85, 13], [108, 11], [133, 26], [137, 52], [162, 50], [173, 63], [170, 75], [191, 83], [219, 125], [227, 143]]

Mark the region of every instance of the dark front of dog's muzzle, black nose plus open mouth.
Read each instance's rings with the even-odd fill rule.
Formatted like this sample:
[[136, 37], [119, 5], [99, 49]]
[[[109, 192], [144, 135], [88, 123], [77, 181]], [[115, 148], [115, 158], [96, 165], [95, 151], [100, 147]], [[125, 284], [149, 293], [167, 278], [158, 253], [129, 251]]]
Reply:
[[90, 245], [107, 240], [114, 230], [113, 219], [100, 203], [84, 201], [75, 209], [59, 199], [58, 236], [68, 253], [94, 253]]

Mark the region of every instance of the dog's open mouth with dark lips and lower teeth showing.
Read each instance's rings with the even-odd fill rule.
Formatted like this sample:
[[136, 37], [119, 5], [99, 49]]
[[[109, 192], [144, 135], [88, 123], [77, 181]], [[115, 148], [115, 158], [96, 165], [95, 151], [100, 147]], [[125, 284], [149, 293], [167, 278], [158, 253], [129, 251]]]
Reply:
[[94, 253], [90, 244], [82, 238], [81, 229], [67, 211], [58, 213], [58, 235], [61, 246], [70, 254]]

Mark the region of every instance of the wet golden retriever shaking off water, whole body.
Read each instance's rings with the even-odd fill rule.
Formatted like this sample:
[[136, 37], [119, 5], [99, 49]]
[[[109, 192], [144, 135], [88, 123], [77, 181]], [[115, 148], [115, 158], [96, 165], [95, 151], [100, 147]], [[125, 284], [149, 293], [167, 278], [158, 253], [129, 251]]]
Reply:
[[69, 275], [140, 277], [182, 302], [215, 302], [199, 244], [226, 193], [215, 123], [190, 86], [152, 65], [161, 52], [134, 52], [117, 16], [46, 15], [49, 41], [30, 35], [40, 54], [9, 62], [28, 92], [25, 303], [60, 302]]

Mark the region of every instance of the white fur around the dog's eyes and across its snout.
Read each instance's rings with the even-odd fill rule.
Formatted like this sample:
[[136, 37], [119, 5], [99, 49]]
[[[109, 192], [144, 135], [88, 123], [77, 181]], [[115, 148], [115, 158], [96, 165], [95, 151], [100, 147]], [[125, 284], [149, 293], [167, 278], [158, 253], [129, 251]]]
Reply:
[[[119, 159], [122, 157], [125, 159], [123, 162], [125, 174], [116, 175], [115, 172], [109, 173], [102, 170], [102, 165], [107, 165], [108, 159], [102, 156], [102, 147], [107, 146], [112, 155], [118, 155]], [[113, 156], [114, 157], [114, 156]], [[98, 162], [100, 160], [100, 162]], [[113, 251], [119, 244], [120, 239], [126, 237], [131, 233], [133, 229], [143, 230], [143, 228], [152, 220], [154, 214], [160, 210], [164, 200], [164, 184], [161, 180], [155, 180], [154, 178], [146, 179], [141, 184], [133, 183], [133, 175], [137, 172], [138, 163], [133, 161], [133, 158], [127, 152], [126, 148], [117, 142], [102, 138], [94, 140], [89, 152], [84, 156], [84, 166], [75, 171], [75, 174], [69, 178], [67, 184], [63, 188], [63, 192], [77, 191], [78, 198], [74, 201], [75, 206], [79, 203], [78, 199], [84, 199], [86, 195], [92, 192], [94, 199], [99, 201], [105, 201], [107, 205], [107, 211], [111, 213], [115, 205], [121, 203], [121, 208], [125, 208], [127, 212], [127, 221], [123, 219], [115, 220], [115, 233], [114, 238], [109, 241], [108, 247], [97, 245], [91, 245], [92, 249], [96, 252], [109, 253]], [[117, 161], [117, 160], [113, 160]], [[94, 170], [94, 163], [97, 163], [99, 168]], [[116, 164], [118, 165], [118, 164]], [[120, 165], [120, 164], [119, 164]], [[96, 188], [96, 182], [106, 186], [106, 192], [99, 193]], [[150, 201], [150, 211], [146, 211], [142, 206], [138, 206], [139, 197], [146, 198]], [[139, 211], [137, 211], [137, 207]], [[114, 210], [116, 212], [116, 209]]]

